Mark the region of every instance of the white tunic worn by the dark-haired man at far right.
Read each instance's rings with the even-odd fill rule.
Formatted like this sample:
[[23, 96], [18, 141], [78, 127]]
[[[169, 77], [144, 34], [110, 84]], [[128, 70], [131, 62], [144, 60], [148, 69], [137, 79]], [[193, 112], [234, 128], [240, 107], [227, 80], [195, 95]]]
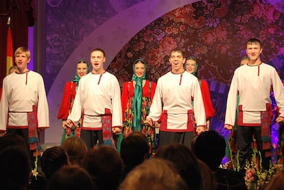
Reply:
[[279, 116], [284, 117], [284, 88], [274, 67], [261, 63], [237, 68], [228, 93], [225, 124], [234, 126], [239, 94], [241, 112], [237, 119], [238, 126], [261, 126], [261, 112], [268, 111], [272, 89], [279, 106]]

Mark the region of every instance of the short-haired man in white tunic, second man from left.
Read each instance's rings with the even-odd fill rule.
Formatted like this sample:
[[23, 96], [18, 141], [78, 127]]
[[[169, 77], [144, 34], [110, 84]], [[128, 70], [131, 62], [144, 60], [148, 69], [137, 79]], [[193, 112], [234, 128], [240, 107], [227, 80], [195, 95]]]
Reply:
[[82, 117], [81, 137], [86, 145], [115, 146], [113, 134], [122, 127], [121, 91], [115, 75], [104, 70], [106, 61], [102, 49], [91, 51], [93, 70], [81, 78], [66, 127], [77, 126]]

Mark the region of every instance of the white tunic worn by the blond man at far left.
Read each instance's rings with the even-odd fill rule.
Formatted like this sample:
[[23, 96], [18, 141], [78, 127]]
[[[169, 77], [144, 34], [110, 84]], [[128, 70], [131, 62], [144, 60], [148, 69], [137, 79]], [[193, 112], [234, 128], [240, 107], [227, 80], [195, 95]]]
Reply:
[[38, 128], [49, 128], [49, 109], [45, 85], [34, 71], [12, 73], [3, 80], [0, 102], [0, 130], [27, 128], [27, 112], [36, 106]]

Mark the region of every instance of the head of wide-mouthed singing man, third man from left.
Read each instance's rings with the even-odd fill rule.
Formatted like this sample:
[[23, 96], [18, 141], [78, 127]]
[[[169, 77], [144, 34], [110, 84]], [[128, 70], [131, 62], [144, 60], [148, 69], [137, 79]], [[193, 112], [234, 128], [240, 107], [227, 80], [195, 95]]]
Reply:
[[178, 51], [171, 52], [169, 57], [169, 62], [171, 63], [171, 72], [172, 73], [182, 73], [185, 71], [183, 64], [185, 63], [185, 58]]

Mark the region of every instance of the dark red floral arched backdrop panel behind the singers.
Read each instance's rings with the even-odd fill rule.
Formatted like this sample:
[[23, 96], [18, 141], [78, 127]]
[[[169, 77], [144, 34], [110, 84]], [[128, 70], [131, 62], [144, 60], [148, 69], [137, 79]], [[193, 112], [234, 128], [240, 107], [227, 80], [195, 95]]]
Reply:
[[209, 82], [216, 115], [212, 128], [226, 136], [224, 113], [233, 72], [246, 56], [246, 40], [263, 43], [263, 62], [283, 73], [284, 14], [265, 1], [198, 1], [161, 16], [135, 35], [108, 67], [119, 83], [131, 80], [132, 63], [147, 62], [147, 78], [170, 71], [169, 51], [179, 48], [198, 59], [198, 76]]

